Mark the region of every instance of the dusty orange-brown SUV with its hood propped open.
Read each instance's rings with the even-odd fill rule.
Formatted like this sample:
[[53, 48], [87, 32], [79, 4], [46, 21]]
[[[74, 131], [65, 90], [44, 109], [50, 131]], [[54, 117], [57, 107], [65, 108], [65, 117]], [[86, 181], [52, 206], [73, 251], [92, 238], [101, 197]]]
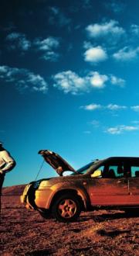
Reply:
[[[81, 211], [139, 209], [139, 157], [109, 157], [76, 171], [59, 154], [50, 150], [40, 150], [39, 154], [59, 177], [26, 185], [21, 202], [43, 217], [71, 222]], [[67, 176], [64, 171], [68, 171]]]

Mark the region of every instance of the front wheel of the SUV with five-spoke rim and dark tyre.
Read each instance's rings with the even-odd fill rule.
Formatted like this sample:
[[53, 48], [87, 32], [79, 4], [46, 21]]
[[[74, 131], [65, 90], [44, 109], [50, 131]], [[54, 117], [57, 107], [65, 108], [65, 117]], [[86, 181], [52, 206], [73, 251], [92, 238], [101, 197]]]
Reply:
[[60, 222], [72, 222], [80, 216], [80, 200], [74, 194], [61, 195], [53, 204], [53, 217]]

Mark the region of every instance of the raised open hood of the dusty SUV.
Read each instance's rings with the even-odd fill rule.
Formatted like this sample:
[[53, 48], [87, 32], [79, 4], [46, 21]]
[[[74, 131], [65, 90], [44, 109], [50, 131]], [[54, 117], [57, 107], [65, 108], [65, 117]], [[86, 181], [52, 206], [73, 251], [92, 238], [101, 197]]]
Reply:
[[38, 154], [42, 155], [45, 161], [56, 170], [59, 176], [62, 176], [64, 171], [73, 171], [76, 173], [74, 168], [60, 157], [59, 154], [50, 150], [39, 150]]

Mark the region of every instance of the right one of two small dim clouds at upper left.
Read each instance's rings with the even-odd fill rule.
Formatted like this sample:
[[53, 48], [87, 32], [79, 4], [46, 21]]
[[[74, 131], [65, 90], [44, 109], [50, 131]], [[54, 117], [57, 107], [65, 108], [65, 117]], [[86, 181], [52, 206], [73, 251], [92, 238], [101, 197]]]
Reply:
[[42, 59], [46, 61], [57, 61], [59, 59], [59, 54], [56, 52], [59, 48], [58, 38], [53, 36], [49, 36], [44, 40], [36, 38], [36, 40], [34, 40], [34, 45], [36, 50], [41, 52]]

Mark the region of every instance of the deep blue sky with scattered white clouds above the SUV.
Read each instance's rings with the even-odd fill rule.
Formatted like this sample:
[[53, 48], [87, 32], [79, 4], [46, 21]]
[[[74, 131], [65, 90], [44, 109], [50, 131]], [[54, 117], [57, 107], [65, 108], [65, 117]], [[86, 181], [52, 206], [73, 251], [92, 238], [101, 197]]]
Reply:
[[[0, 140], [17, 165], [5, 185], [36, 178], [41, 149], [80, 168], [138, 156], [139, 2], [2, 1]], [[44, 164], [39, 178], [54, 175]]]

